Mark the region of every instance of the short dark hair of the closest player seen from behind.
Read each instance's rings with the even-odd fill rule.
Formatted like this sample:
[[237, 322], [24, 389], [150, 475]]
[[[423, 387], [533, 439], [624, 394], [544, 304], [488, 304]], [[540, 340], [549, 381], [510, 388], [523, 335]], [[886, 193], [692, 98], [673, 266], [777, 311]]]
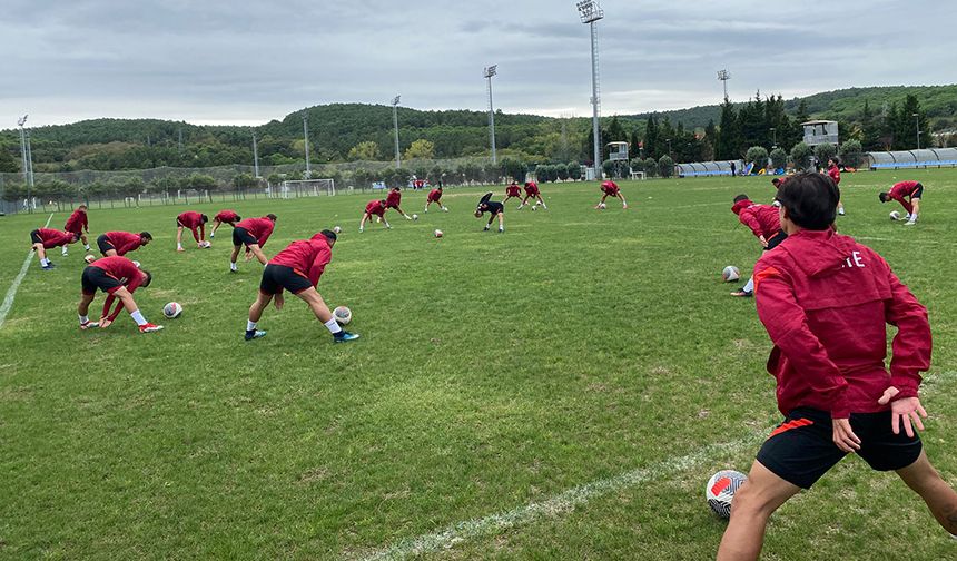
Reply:
[[785, 181], [775, 198], [792, 223], [809, 230], [825, 230], [837, 218], [840, 190], [830, 177], [809, 171]]

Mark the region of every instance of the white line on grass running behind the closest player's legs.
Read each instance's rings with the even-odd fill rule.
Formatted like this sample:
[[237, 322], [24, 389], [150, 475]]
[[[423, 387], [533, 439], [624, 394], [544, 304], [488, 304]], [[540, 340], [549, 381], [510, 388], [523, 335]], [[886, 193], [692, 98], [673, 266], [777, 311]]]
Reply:
[[[950, 382], [955, 378], [957, 378], [957, 371], [945, 371], [928, 375], [924, 382], [926, 388], [936, 390], [938, 384]], [[640, 468], [615, 475], [614, 478], [574, 486], [544, 501], [532, 502], [507, 512], [490, 514], [481, 519], [457, 522], [433, 533], [405, 539], [362, 559], [364, 561], [408, 559], [411, 557], [445, 551], [470, 539], [499, 535], [506, 530], [530, 524], [539, 519], [559, 516], [593, 499], [633, 488], [647, 481], [661, 480], [674, 473], [698, 468], [701, 464], [708, 463], [716, 453], [737, 454], [749, 447], [756, 447], [770, 432], [771, 429], [766, 429], [737, 441], [712, 444], [688, 455], [671, 457], [648, 468]], [[754, 452], [757, 452], [757, 447]]]

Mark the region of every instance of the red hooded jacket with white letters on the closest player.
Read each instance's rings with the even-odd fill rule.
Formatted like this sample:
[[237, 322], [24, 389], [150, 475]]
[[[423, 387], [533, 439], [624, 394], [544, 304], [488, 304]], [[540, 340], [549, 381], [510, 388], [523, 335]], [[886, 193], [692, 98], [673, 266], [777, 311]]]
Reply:
[[[801, 230], [754, 266], [758, 316], [775, 347], [768, 372], [778, 409], [807, 406], [832, 419], [888, 410], [878, 398], [916, 397], [930, 367], [927, 309], [869, 247], [832, 230]], [[897, 326], [890, 374], [886, 324]]]

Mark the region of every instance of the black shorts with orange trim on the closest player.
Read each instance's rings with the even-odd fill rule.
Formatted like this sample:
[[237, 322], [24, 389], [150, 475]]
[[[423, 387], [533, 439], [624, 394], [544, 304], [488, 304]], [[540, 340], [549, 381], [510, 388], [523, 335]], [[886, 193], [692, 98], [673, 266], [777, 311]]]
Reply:
[[[850, 415], [850, 426], [861, 441], [857, 455], [877, 471], [907, 468], [923, 447], [917, 434], [908, 436], [902, 427], [900, 434], [894, 434], [890, 420], [890, 411]], [[771, 432], [758, 461], [785, 481], [810, 489], [845, 455], [833, 443], [830, 413], [798, 407]]]

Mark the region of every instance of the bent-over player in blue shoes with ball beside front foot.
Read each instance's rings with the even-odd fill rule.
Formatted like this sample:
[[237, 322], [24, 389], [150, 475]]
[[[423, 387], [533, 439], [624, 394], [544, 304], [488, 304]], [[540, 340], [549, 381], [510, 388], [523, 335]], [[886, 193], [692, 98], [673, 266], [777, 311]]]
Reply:
[[309, 305], [316, 317], [333, 334], [333, 342], [345, 343], [358, 338], [357, 334], [343, 331], [323, 297], [316, 292], [319, 277], [323, 276], [323, 270], [333, 258], [335, 244], [336, 234], [323, 230], [310, 239], [293, 242], [273, 257], [263, 270], [263, 280], [259, 283], [259, 294], [256, 296], [256, 302], [249, 307], [246, 341], [266, 335], [266, 332], [256, 329], [256, 324], [259, 323], [263, 312], [274, 298], [276, 309], [283, 309], [284, 288]]

